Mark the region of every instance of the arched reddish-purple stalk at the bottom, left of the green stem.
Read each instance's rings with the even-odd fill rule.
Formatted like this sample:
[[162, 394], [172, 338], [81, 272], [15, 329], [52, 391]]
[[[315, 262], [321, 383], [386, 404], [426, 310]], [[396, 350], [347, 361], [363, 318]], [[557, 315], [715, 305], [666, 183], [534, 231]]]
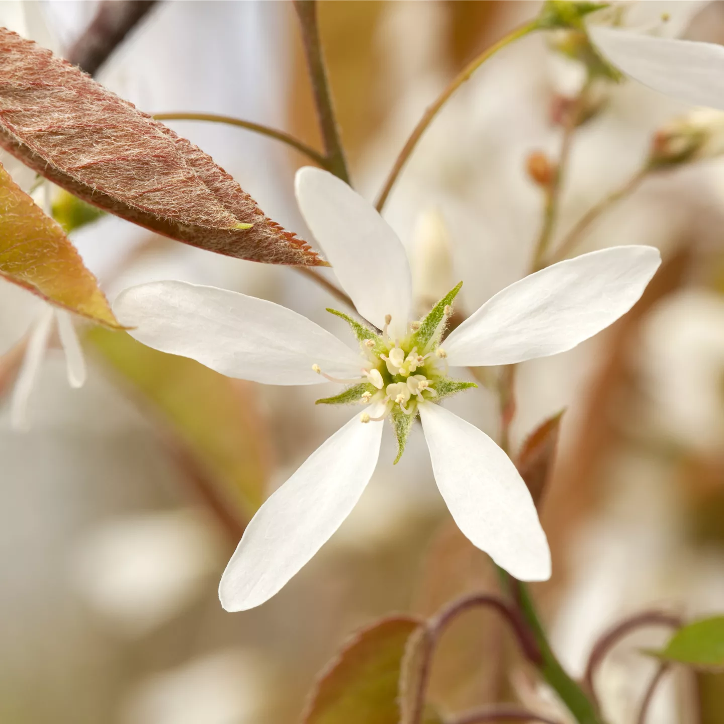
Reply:
[[425, 693], [429, 683], [432, 658], [439, 639], [442, 637], [442, 634], [445, 633], [447, 626], [450, 626], [450, 623], [452, 623], [455, 618], [458, 618], [461, 613], [466, 613], [466, 611], [474, 608], [492, 608], [497, 611], [497, 613], [500, 613], [510, 624], [510, 628], [513, 629], [513, 633], [515, 633], [515, 637], [518, 639], [518, 644], [520, 644], [523, 654], [536, 665], [541, 661], [538, 644], [536, 644], [534, 636], [531, 635], [529, 628], [526, 626], [526, 622], [518, 613], [518, 610], [506, 602], [505, 599], [502, 599], [496, 594], [472, 594], [453, 601], [427, 623], [426, 647], [420, 667], [415, 702], [409, 718], [411, 724], [421, 724], [425, 709]]

